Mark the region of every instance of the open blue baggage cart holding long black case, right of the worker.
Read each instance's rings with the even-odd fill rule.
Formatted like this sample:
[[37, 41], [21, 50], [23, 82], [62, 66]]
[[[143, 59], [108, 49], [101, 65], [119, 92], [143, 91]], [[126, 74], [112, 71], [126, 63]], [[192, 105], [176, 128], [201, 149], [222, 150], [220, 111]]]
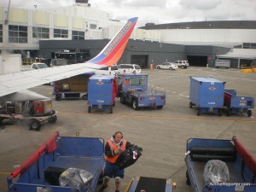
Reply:
[[[256, 160], [236, 137], [232, 140], [190, 138], [186, 150], [186, 183], [194, 192], [256, 191]], [[207, 170], [210, 160], [221, 160], [226, 168], [224, 172], [219, 167], [219, 174], [213, 174], [213, 178], [223, 178], [228, 172], [229, 179], [218, 182], [206, 180], [204, 170]]]

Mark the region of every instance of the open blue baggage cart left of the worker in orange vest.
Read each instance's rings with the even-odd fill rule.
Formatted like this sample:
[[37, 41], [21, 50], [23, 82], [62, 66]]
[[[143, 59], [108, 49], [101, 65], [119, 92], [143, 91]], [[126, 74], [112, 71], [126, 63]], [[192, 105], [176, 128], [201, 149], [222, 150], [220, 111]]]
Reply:
[[[7, 178], [8, 192], [95, 191], [104, 165], [104, 140], [98, 137], [60, 137], [55, 133]], [[60, 175], [70, 168], [90, 172], [90, 182], [73, 180], [63, 186]], [[18, 177], [19, 176], [19, 177]], [[65, 174], [64, 174], [65, 176]], [[76, 176], [76, 175], [75, 175]]]

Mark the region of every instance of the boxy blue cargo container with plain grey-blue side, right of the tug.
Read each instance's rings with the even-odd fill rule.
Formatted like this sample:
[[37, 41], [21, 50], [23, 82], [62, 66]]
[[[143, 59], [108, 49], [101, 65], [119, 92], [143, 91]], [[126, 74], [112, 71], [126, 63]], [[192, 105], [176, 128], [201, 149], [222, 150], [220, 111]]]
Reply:
[[213, 78], [190, 77], [189, 107], [196, 106], [196, 114], [222, 115], [225, 82]]

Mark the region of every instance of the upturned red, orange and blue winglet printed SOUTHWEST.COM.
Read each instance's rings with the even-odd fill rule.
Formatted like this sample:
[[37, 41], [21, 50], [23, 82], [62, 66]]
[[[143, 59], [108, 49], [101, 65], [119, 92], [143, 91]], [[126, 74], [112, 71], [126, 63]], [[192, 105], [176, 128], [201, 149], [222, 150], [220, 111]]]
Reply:
[[87, 62], [102, 64], [105, 66], [113, 66], [113, 64], [117, 63], [121, 55], [123, 55], [125, 46], [128, 43], [137, 19], [137, 17], [134, 17], [128, 20], [125, 26], [119, 30], [104, 49], [102, 49], [96, 57]]

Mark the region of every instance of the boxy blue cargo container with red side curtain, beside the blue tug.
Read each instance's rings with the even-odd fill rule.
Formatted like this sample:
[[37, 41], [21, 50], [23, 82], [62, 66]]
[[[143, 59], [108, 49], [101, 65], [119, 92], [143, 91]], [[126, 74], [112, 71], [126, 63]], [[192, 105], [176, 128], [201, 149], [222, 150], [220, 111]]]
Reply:
[[113, 113], [117, 93], [114, 75], [93, 75], [88, 81], [88, 112], [92, 109], [109, 109]]

